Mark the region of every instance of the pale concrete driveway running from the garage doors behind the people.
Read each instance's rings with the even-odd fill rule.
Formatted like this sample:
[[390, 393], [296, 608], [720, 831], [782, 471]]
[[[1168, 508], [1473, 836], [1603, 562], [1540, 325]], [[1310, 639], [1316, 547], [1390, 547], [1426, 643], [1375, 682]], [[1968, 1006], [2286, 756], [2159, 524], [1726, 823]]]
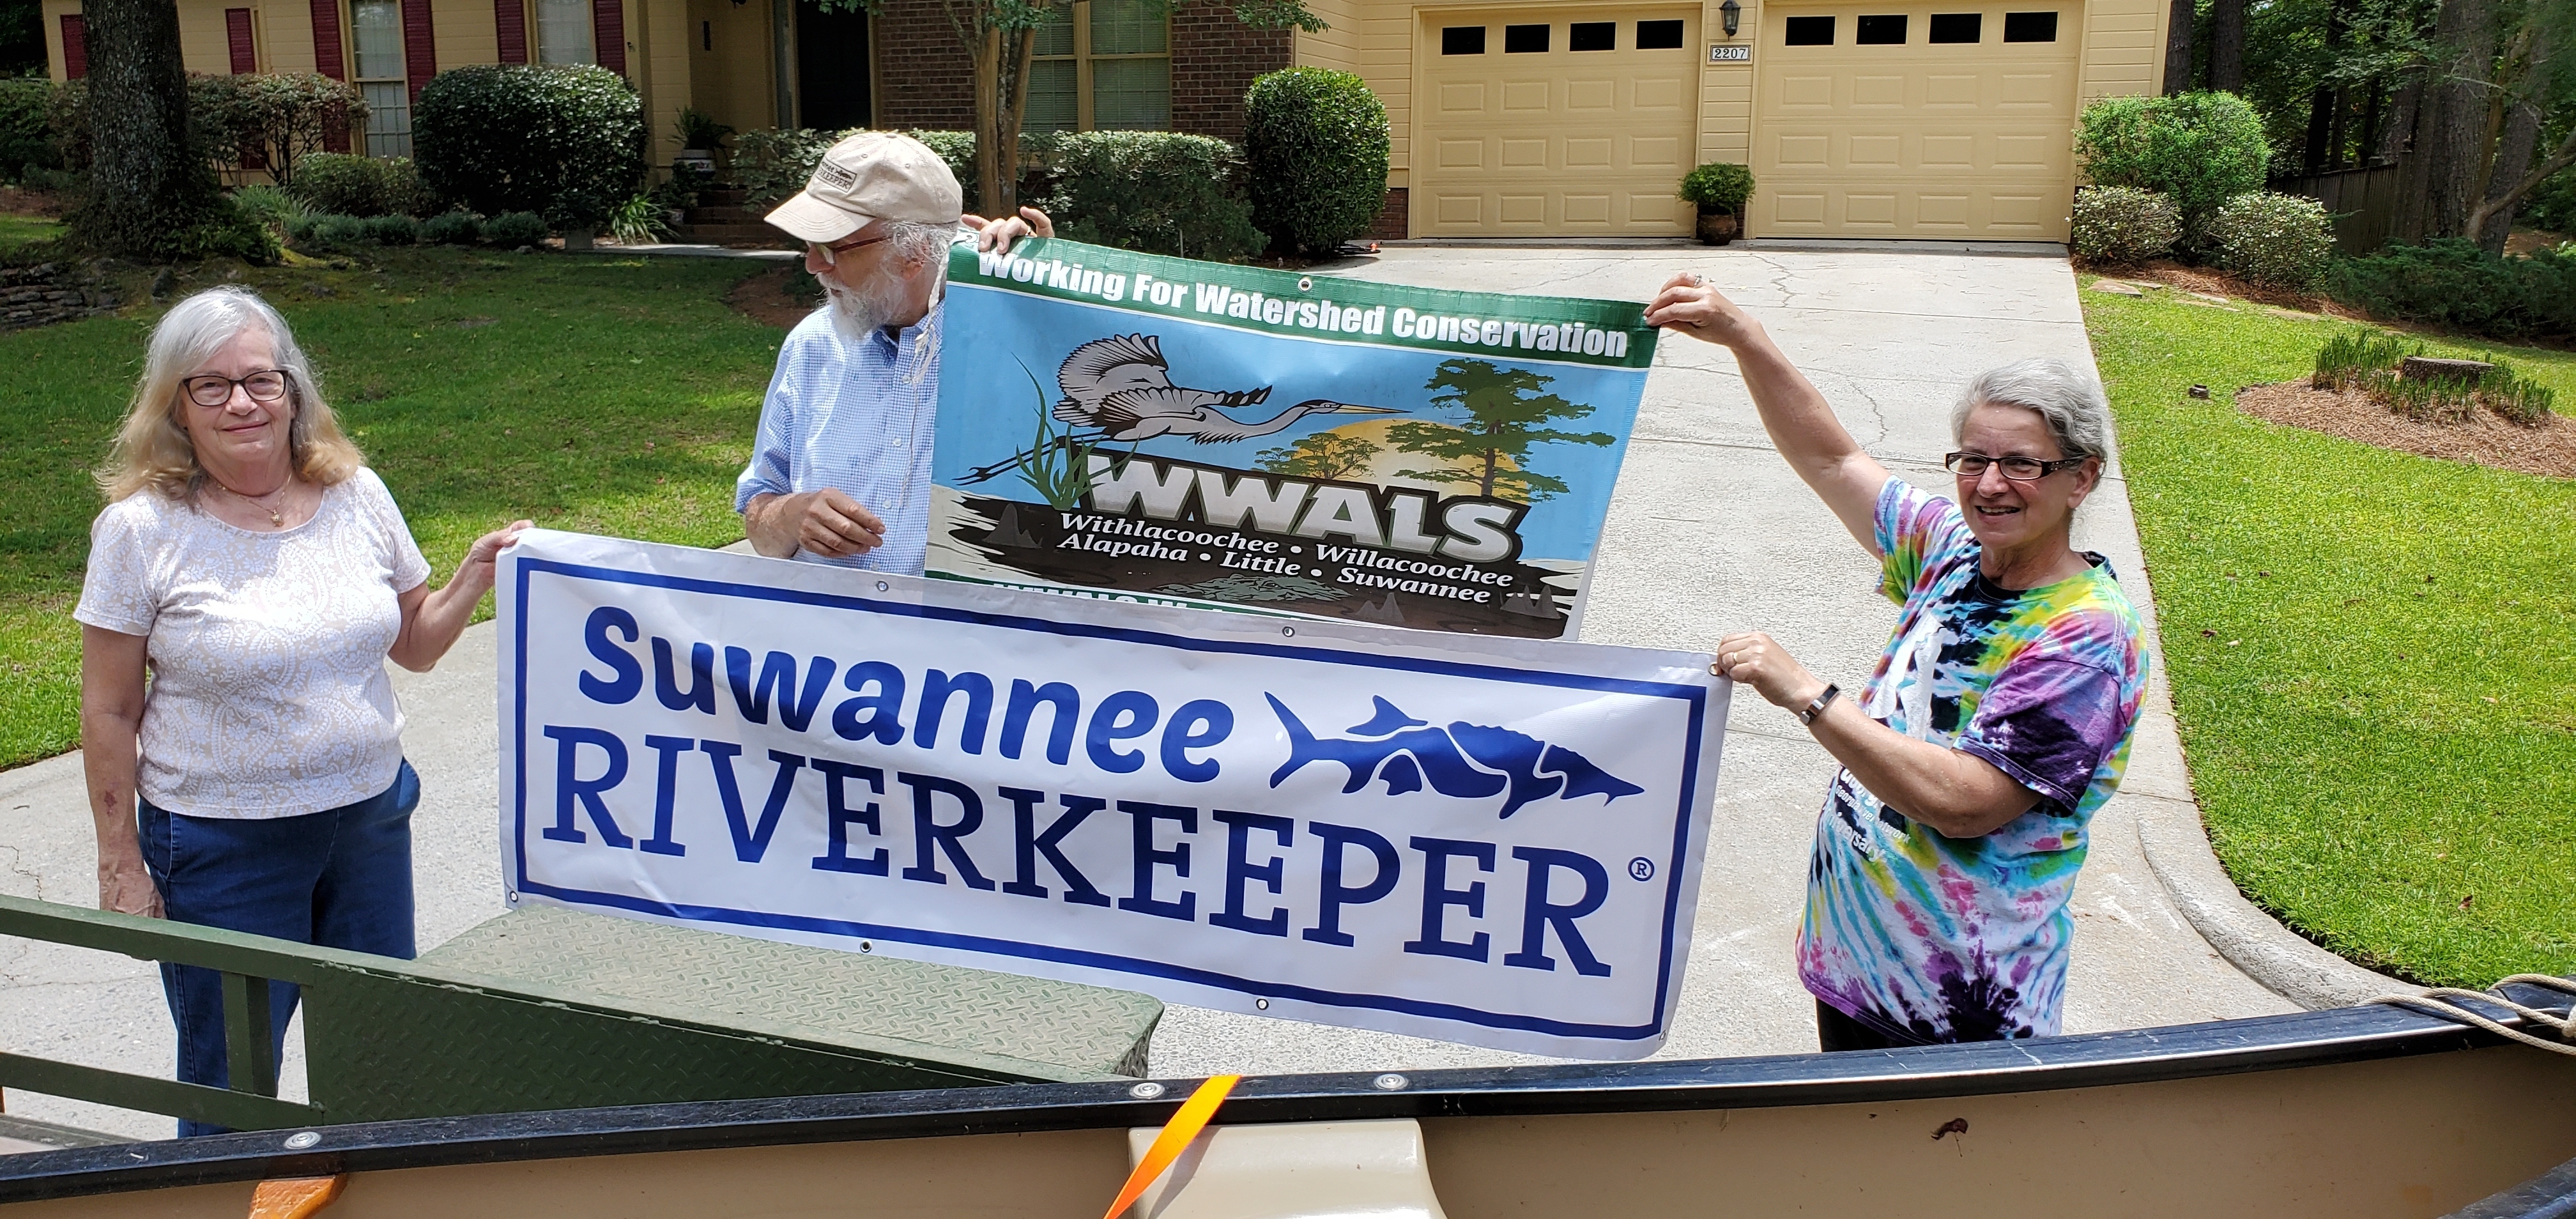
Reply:
[[[2089, 366], [2076, 283], [2063, 258], [1880, 250], [1461, 250], [1401, 247], [1355, 278], [1440, 289], [1649, 299], [1698, 271], [1754, 309], [1844, 423], [1901, 477], [1945, 485], [1947, 415], [1986, 366], [2058, 356]], [[397, 487], [399, 492], [399, 487]], [[2148, 606], [2146, 564], [2117, 464], [2076, 541], [2112, 559]], [[1646, 384], [1602, 539], [1584, 639], [1700, 649], [1734, 629], [1780, 637], [1816, 673], [1865, 680], [1893, 606], [1875, 564], [1772, 454], [1721, 348], [1667, 340]], [[425, 781], [417, 814], [422, 948], [502, 910], [495, 866], [492, 631], [466, 634], [430, 675], [397, 673], [407, 750]], [[2161, 665], [2151, 693], [2164, 706]], [[1700, 884], [1682, 1008], [1659, 1057], [1814, 1049], [1814, 1008], [1790, 941], [1806, 845], [1832, 760], [1785, 711], [1736, 706]], [[2128, 791], [2094, 820], [2076, 884], [2066, 1031], [2138, 1028], [2295, 1010], [2226, 964], [2177, 912], [2138, 848], [2143, 799], [2190, 799], [2169, 714], [2151, 716]], [[0, 892], [93, 902], [80, 760], [0, 776]], [[0, 941], [0, 1039], [8, 1049], [134, 1072], [170, 1070], [160, 987], [137, 961]], [[1538, 1062], [1520, 1054], [1175, 1008], [1154, 1036], [1157, 1075], [1419, 1070]], [[289, 1062], [289, 1090], [301, 1062]], [[10, 1113], [134, 1137], [165, 1118], [10, 1093]]]

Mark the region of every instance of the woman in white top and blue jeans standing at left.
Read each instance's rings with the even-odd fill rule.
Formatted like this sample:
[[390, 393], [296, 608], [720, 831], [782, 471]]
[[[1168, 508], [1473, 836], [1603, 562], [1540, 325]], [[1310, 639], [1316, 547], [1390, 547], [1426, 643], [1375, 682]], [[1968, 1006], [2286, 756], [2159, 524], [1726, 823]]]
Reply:
[[[433, 593], [286, 320], [245, 289], [160, 320], [98, 485], [72, 611], [98, 905], [412, 956], [420, 778], [384, 660], [435, 665], [528, 523]], [[281, 1049], [296, 987], [273, 987]], [[178, 1077], [224, 1088], [219, 974], [162, 966], [162, 990]]]

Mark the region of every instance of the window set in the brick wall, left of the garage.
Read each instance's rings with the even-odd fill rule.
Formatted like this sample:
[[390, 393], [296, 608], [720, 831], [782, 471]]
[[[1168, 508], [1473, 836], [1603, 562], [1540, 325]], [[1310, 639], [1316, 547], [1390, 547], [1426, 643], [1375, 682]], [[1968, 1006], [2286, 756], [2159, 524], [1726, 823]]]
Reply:
[[1172, 26], [1144, 0], [1048, 8], [1028, 64], [1025, 131], [1167, 131]]

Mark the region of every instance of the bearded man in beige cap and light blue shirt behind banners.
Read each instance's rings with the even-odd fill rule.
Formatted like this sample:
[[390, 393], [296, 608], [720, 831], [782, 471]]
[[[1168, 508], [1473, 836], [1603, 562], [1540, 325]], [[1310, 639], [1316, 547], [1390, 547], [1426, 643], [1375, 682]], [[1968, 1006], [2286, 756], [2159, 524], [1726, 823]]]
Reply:
[[920, 575], [930, 546], [930, 430], [940, 399], [940, 294], [948, 245], [1007, 250], [1054, 237], [1038, 209], [961, 214], [948, 162], [917, 139], [860, 131], [770, 211], [806, 242], [824, 307], [788, 330], [760, 402], [734, 510], [773, 559]]

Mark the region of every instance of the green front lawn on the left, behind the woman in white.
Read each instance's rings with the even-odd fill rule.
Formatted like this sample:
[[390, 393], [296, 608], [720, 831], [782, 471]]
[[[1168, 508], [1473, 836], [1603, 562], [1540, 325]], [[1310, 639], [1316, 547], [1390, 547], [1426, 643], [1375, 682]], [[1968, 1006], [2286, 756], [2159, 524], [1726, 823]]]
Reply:
[[[389, 250], [376, 268], [265, 268], [322, 392], [384, 474], [438, 580], [487, 528], [693, 546], [742, 536], [781, 335], [724, 307], [757, 263]], [[180, 281], [180, 296], [196, 286]], [[80, 598], [106, 456], [160, 309], [0, 335], [0, 768], [77, 745]]]

